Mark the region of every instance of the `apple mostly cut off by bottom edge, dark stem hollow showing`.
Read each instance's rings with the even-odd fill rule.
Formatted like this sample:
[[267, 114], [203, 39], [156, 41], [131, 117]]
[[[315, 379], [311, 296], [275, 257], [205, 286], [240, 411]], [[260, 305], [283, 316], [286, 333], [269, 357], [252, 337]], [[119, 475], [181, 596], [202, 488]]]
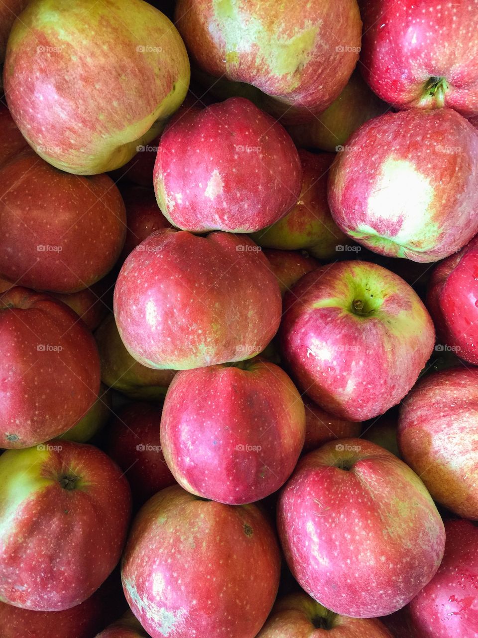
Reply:
[[257, 638], [393, 638], [377, 618], [347, 618], [307, 594], [277, 600]]

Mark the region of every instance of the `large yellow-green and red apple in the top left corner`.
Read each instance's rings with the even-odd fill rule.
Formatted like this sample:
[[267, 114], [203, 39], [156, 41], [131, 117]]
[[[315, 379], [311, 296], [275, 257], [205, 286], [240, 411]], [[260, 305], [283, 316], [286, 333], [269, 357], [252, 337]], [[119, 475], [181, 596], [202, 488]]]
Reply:
[[31, 0], [11, 29], [3, 82], [34, 151], [94, 175], [161, 132], [187, 93], [189, 61], [171, 21], [143, 0]]

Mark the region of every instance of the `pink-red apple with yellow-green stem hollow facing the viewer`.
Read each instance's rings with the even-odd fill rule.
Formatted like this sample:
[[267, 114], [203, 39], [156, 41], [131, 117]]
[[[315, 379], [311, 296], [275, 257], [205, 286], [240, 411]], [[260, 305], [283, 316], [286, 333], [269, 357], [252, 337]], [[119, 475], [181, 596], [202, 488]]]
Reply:
[[298, 388], [335, 417], [372, 419], [416, 382], [435, 344], [430, 315], [375, 263], [325, 265], [284, 298], [280, 347]]

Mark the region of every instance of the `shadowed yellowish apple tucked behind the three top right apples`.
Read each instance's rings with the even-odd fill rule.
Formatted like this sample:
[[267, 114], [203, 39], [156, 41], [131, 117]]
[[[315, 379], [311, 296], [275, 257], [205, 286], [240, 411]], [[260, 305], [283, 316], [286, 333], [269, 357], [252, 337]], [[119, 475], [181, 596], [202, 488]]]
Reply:
[[356, 70], [330, 107], [310, 122], [287, 126], [287, 131], [298, 147], [337, 152], [359, 126], [389, 108], [370, 91]]

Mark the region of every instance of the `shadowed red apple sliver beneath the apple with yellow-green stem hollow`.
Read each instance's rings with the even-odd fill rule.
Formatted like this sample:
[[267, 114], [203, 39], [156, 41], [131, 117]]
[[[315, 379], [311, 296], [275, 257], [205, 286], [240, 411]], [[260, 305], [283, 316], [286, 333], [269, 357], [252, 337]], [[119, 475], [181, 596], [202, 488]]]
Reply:
[[305, 406], [305, 443], [302, 452], [310, 452], [327, 441], [359, 436], [362, 424], [339, 419], [325, 412], [313, 401], [304, 401]]

